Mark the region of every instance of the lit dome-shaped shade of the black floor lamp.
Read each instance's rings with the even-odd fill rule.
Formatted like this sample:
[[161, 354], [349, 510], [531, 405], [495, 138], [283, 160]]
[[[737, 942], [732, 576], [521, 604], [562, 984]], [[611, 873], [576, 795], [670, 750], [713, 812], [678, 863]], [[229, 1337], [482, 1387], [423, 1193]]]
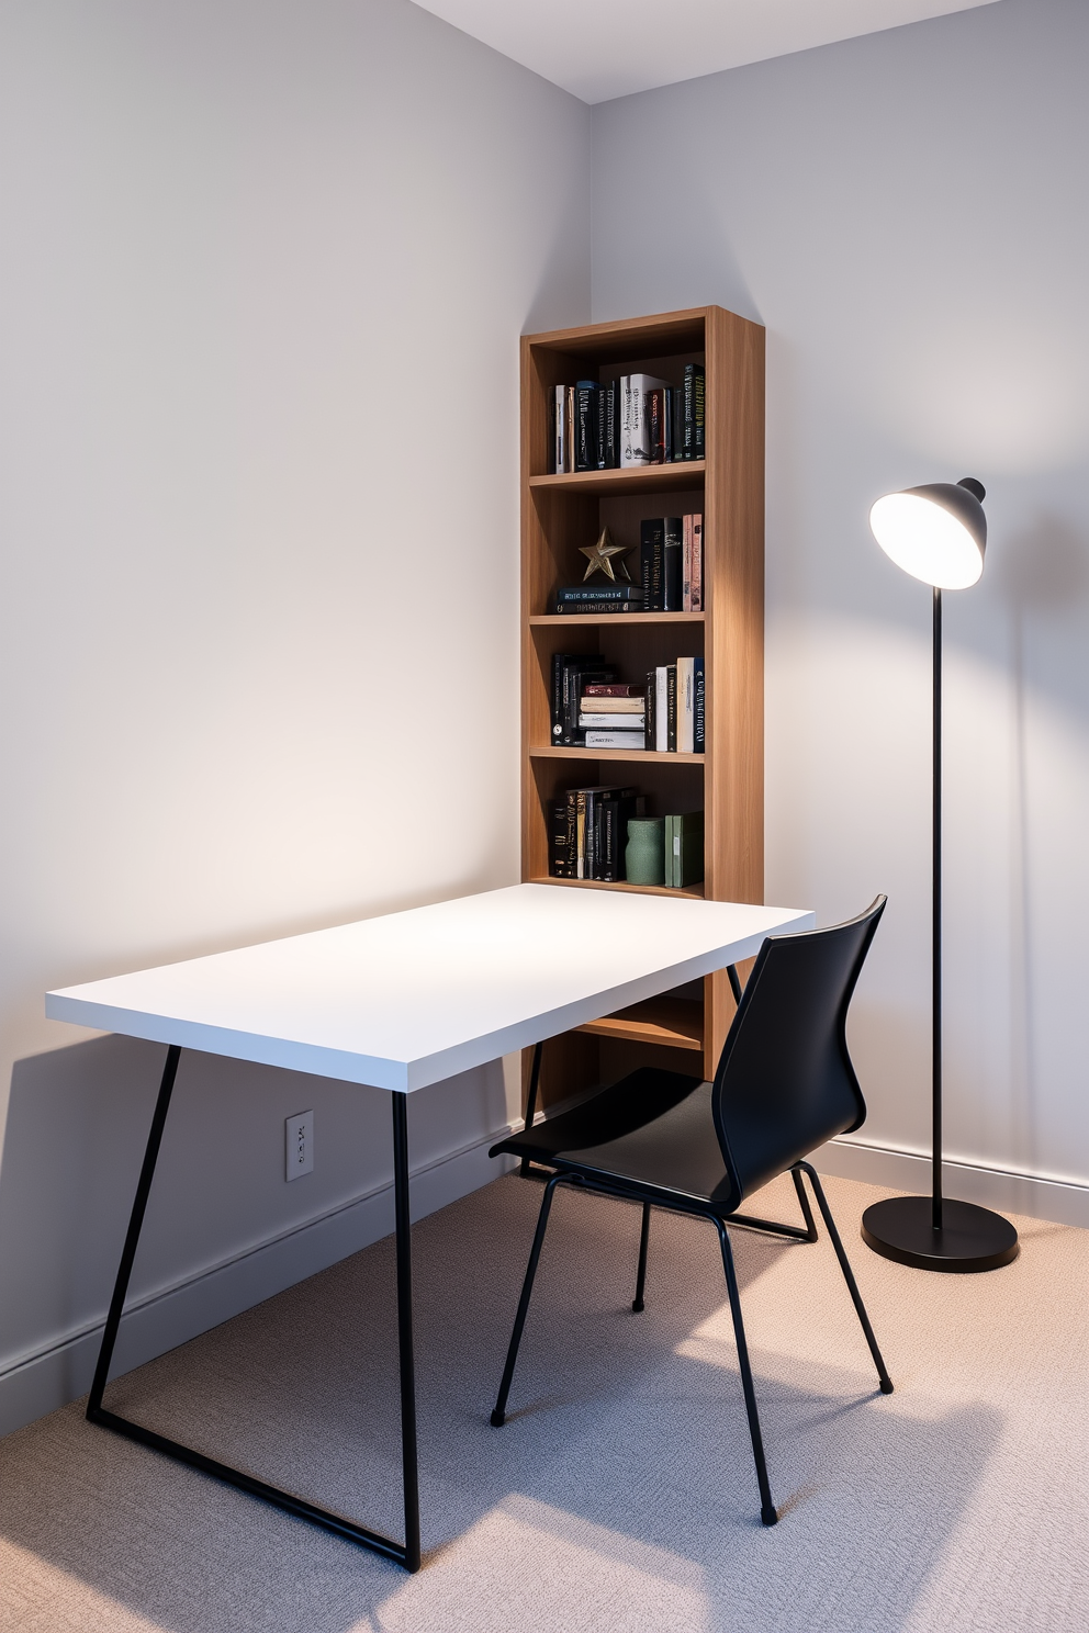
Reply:
[[983, 572], [983, 496], [975, 477], [887, 493], [870, 511], [870, 527], [905, 573], [937, 590], [967, 590]]

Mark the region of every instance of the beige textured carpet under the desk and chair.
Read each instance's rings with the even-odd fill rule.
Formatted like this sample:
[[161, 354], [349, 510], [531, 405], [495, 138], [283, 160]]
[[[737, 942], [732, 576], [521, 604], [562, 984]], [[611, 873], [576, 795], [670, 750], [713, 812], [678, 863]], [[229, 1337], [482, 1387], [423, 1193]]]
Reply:
[[[782, 1520], [758, 1522], [713, 1230], [560, 1192], [508, 1426], [488, 1426], [540, 1189], [508, 1177], [413, 1233], [424, 1569], [395, 1566], [88, 1426], [0, 1442], [5, 1633], [1082, 1633], [1089, 1233], [942, 1277], [859, 1241], [896, 1383], [826, 1236], [736, 1233]], [[767, 1207], [793, 1217], [789, 1182]], [[392, 1244], [204, 1334], [108, 1401], [364, 1524], [398, 1527]], [[384, 1496], [385, 1493], [385, 1496]]]

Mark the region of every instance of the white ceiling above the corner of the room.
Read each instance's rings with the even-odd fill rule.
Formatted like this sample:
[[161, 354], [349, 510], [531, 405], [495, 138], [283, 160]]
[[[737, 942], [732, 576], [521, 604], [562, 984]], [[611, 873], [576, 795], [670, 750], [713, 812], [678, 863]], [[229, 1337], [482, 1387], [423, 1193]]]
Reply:
[[994, 0], [416, 0], [583, 101]]

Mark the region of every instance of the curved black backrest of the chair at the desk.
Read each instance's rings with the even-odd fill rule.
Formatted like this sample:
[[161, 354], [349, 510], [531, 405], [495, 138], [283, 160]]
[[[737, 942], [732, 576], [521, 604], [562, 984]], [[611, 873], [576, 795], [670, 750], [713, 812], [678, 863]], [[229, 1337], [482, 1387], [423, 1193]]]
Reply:
[[756, 955], [712, 1091], [731, 1207], [864, 1122], [847, 1008], [885, 900], [846, 924], [769, 936]]

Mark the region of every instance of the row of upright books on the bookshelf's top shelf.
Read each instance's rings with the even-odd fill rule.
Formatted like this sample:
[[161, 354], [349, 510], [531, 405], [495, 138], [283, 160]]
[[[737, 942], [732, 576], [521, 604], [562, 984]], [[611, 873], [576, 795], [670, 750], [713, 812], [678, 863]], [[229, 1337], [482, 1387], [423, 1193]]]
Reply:
[[578, 380], [552, 397], [552, 470], [629, 470], [702, 459], [704, 364], [686, 363], [684, 382], [653, 374]]

